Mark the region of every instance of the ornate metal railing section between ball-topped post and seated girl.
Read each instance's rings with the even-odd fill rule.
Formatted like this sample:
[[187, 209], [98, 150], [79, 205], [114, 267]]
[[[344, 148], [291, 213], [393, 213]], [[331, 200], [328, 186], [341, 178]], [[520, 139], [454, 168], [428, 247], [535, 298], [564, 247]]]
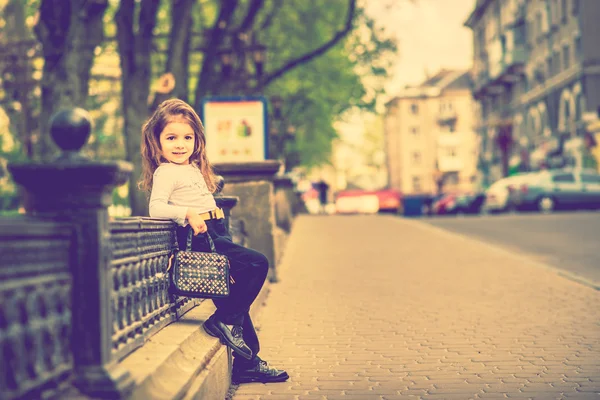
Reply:
[[112, 352], [122, 359], [201, 300], [171, 296], [167, 265], [175, 224], [124, 218], [110, 224]]

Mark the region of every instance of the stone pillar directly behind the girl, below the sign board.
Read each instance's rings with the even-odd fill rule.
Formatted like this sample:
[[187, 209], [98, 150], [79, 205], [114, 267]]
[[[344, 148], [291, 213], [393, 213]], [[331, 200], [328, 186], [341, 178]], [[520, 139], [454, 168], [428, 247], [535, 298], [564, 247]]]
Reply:
[[263, 253], [269, 260], [269, 280], [275, 282], [275, 200], [273, 178], [281, 163], [275, 160], [215, 163], [215, 172], [227, 182], [225, 196], [237, 196], [240, 204], [235, 208], [236, 218], [243, 221], [246, 245]]

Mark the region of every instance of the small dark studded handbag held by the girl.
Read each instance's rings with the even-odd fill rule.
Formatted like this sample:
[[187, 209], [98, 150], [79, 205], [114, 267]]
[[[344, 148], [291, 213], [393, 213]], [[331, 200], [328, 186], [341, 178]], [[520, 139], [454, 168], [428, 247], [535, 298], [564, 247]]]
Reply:
[[185, 250], [173, 251], [169, 265], [170, 292], [178, 296], [221, 298], [229, 296], [229, 260], [215, 251], [208, 232], [204, 234], [210, 253], [192, 251], [190, 229]]

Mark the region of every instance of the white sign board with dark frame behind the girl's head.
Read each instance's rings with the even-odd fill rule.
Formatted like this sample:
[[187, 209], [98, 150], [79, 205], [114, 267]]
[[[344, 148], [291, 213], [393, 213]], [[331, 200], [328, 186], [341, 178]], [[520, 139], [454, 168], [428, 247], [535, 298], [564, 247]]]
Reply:
[[206, 98], [202, 101], [201, 114], [211, 163], [267, 159], [267, 101], [264, 97]]

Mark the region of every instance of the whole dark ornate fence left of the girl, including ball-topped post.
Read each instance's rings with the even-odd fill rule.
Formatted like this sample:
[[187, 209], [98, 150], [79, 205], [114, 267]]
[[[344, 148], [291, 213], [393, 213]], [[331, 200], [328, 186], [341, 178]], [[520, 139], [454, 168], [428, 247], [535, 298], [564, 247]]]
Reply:
[[[63, 383], [77, 396], [127, 398], [135, 382], [119, 361], [201, 300], [169, 294], [173, 222], [109, 219], [132, 166], [78, 153], [85, 111], [52, 121], [63, 153], [9, 165], [31, 216], [0, 219], [0, 398], [61, 397]], [[236, 202], [217, 198], [227, 222]], [[234, 236], [243, 241], [241, 229]]]

